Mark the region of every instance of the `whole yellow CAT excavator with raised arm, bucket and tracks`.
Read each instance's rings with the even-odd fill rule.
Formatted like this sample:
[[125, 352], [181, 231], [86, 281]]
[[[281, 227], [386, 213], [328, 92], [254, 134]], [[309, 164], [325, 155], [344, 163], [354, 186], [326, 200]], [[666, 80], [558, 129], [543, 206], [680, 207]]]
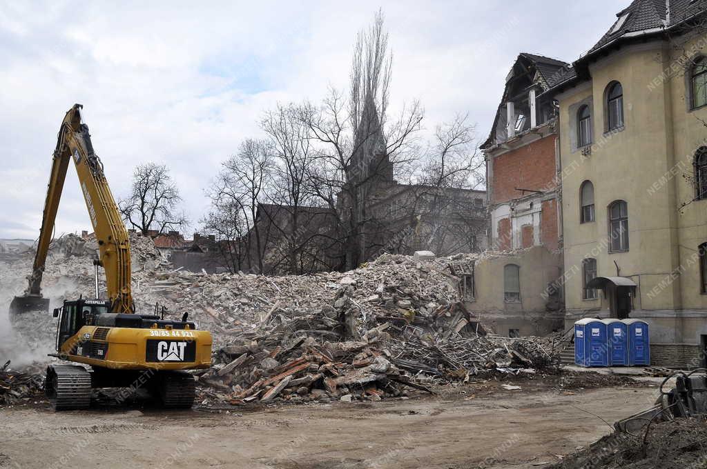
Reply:
[[[42, 229], [33, 272], [25, 295], [10, 306], [14, 321], [37, 309], [48, 312], [42, 297], [45, 268], [54, 220], [62, 196], [69, 160], [74, 160], [78, 182], [98, 241], [100, 259], [94, 261], [95, 298], [64, 300], [54, 309], [59, 318], [57, 353], [53, 357], [89, 365], [50, 364], [45, 392], [55, 410], [88, 408], [92, 388], [143, 388], [165, 407], [190, 408], [194, 403], [194, 377], [182, 370], [211, 366], [211, 333], [188, 321], [164, 319], [157, 314], [136, 314], [130, 284], [130, 244], [105, 174], [95, 154], [81, 105], [66, 112], [52, 160]], [[105, 269], [107, 299], [98, 298], [98, 266]]]

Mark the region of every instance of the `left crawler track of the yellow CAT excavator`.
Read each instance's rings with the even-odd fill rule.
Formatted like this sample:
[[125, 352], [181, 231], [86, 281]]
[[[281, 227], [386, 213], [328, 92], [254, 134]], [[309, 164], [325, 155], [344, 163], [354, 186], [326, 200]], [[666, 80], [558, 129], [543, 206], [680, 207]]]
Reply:
[[47, 367], [45, 393], [54, 410], [88, 409], [90, 405], [90, 373], [71, 364]]

